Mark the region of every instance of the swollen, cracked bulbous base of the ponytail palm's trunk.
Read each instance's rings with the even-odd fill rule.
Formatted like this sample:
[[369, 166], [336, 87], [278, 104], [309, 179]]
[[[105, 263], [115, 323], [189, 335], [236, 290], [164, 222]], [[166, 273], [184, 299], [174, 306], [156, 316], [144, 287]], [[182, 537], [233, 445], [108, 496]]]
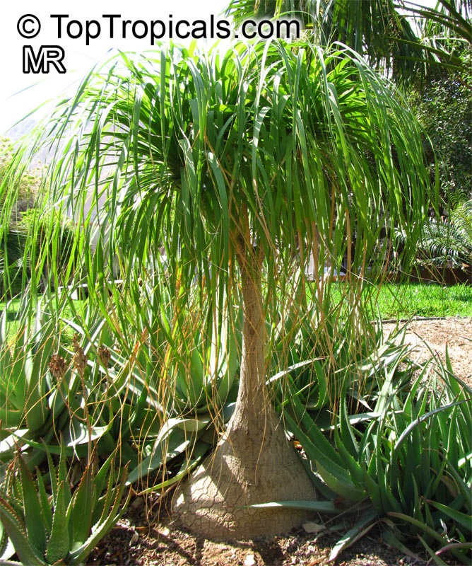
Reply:
[[261, 413], [265, 426], [257, 427], [259, 434], [242, 420], [231, 420], [216, 451], [178, 488], [172, 514], [179, 525], [206, 538], [228, 540], [288, 533], [307, 519], [309, 513], [293, 509], [245, 507], [315, 496], [275, 412], [269, 407]]

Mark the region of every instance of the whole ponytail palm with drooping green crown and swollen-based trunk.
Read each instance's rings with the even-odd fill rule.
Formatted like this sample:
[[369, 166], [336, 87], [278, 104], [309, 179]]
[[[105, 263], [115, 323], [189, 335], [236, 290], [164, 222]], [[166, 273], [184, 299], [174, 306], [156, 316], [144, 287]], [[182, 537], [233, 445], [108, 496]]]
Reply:
[[52, 194], [98, 240], [95, 255], [81, 244], [85, 262], [115, 254], [138, 297], [138, 276], [161, 265], [165, 246], [156, 297], [166, 287], [184, 308], [196, 289], [217, 328], [223, 312], [242, 311], [235, 410], [179, 488], [175, 515], [211, 537], [289, 530], [300, 512], [247, 507], [314, 497], [269, 400], [266, 320], [278, 320], [279, 283], [296, 262], [303, 273], [306, 247], [318, 274], [347, 253], [348, 279], [362, 279], [368, 263], [382, 266], [394, 226], [413, 246], [428, 192], [418, 125], [348, 48], [259, 42], [121, 54], [62, 101], [49, 128], [59, 142]]

